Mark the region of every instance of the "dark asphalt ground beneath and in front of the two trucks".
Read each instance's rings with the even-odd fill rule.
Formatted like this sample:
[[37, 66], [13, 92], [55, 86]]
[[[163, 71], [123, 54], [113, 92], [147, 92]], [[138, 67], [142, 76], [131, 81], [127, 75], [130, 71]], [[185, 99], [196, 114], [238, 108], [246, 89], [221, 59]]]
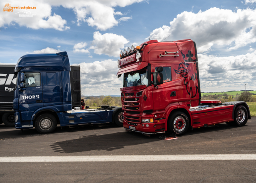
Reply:
[[[125, 132], [112, 124], [57, 127], [52, 134], [35, 129], [17, 130], [0, 125], [0, 183], [62, 182], [256, 182], [256, 160], [222, 160], [221, 155], [256, 157], [256, 117], [246, 126], [218, 124], [189, 131], [175, 140], [160, 140]], [[187, 160], [188, 155], [214, 155], [218, 160]], [[221, 154], [221, 155], [218, 155]], [[127, 161], [77, 160], [77, 156], [130, 155]], [[136, 158], [145, 156], [147, 161]], [[181, 155], [155, 161], [152, 155]], [[73, 158], [76, 162], [42, 162], [46, 156]], [[1, 162], [17, 157], [24, 162]], [[38, 158], [38, 162], [27, 159]], [[133, 161], [132, 158], [136, 160]], [[150, 159], [151, 157], [151, 159]], [[40, 161], [39, 161], [40, 160]]]

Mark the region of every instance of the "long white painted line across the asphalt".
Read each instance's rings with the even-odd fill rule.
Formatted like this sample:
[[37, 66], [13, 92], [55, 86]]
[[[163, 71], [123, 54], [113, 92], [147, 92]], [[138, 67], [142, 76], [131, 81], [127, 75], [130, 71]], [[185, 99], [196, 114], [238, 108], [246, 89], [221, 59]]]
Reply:
[[256, 160], [256, 154], [195, 155], [81, 155], [81, 156], [19, 156], [0, 157], [0, 163], [18, 162], [96, 162], [96, 161], [220, 161]]

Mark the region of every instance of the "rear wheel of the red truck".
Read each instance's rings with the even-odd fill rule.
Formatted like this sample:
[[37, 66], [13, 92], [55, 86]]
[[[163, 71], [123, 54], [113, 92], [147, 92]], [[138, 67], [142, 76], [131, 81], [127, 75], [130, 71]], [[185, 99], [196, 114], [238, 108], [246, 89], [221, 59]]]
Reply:
[[248, 110], [244, 106], [238, 106], [234, 117], [234, 124], [236, 126], [244, 126], [248, 120]]

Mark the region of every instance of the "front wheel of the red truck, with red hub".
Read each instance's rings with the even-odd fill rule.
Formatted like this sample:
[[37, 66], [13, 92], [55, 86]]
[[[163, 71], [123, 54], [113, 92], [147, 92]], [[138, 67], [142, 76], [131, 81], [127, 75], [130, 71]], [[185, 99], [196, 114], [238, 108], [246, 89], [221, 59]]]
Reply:
[[188, 131], [189, 120], [184, 112], [174, 112], [168, 121], [168, 129], [170, 133], [183, 135]]

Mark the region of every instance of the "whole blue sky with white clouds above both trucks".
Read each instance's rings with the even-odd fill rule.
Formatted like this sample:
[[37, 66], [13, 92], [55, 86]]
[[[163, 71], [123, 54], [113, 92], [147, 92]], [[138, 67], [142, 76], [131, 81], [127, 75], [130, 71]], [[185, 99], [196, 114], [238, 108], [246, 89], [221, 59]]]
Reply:
[[201, 91], [256, 90], [256, 0], [0, 0], [0, 63], [67, 51], [80, 65], [82, 94], [120, 94], [121, 49], [150, 39], [192, 39]]

